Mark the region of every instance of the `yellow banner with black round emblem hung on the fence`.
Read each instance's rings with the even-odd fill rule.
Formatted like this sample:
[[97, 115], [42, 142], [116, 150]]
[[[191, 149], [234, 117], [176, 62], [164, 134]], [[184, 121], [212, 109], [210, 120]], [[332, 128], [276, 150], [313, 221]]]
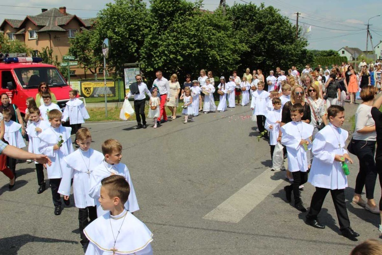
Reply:
[[106, 87], [100, 81], [81, 82], [81, 96], [84, 97], [113, 97], [116, 96], [114, 81], [106, 81]]

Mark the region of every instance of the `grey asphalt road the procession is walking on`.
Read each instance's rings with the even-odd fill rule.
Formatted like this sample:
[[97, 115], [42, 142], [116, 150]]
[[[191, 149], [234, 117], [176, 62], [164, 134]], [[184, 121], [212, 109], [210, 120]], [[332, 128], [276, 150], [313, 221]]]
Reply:
[[[353, 112], [351, 108], [347, 117]], [[361, 236], [352, 242], [339, 234], [330, 195], [320, 214], [324, 230], [306, 225], [305, 213], [285, 202], [285, 172], [270, 172], [269, 145], [257, 141], [248, 107], [182, 122], [179, 117], [156, 130], [151, 120], [145, 130], [134, 130], [135, 122], [85, 124], [91, 129], [94, 149], [100, 150], [108, 138], [122, 142], [122, 162], [130, 170], [141, 208], [135, 216], [153, 232], [154, 254], [348, 254], [358, 243], [378, 239], [379, 215], [350, 203], [358, 172], [356, 157], [346, 199], [351, 225]], [[12, 191], [5, 175], [0, 177], [0, 254], [83, 253], [73, 201], [55, 216], [50, 189], [36, 193], [34, 165], [20, 163], [17, 172]], [[254, 184], [262, 182], [270, 191], [262, 198], [245, 193], [248, 185], [256, 189]], [[313, 191], [305, 185], [302, 198], [307, 207]], [[377, 201], [379, 194], [377, 182]], [[254, 205], [237, 223], [204, 218], [233, 195], [240, 198], [238, 207]]]

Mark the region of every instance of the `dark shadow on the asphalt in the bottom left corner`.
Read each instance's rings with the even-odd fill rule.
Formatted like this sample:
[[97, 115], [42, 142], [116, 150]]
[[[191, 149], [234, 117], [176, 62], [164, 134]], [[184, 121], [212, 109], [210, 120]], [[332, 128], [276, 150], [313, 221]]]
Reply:
[[78, 242], [76, 241], [36, 237], [36, 236], [24, 234], [20, 236], [6, 237], [6, 238], [0, 239], [0, 254], [16, 255], [18, 250], [23, 245], [30, 242], [78, 244]]

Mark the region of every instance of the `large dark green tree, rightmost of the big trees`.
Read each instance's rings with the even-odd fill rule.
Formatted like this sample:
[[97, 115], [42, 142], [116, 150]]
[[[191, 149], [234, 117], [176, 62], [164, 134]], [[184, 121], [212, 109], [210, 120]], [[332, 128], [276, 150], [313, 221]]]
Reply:
[[233, 21], [240, 42], [248, 46], [248, 50], [239, 55], [241, 71], [246, 67], [265, 71], [276, 66], [302, 68], [313, 61], [313, 55], [306, 49], [307, 40], [301, 36], [295, 38], [295, 25], [278, 9], [264, 4], [234, 4], [227, 8], [227, 16]]

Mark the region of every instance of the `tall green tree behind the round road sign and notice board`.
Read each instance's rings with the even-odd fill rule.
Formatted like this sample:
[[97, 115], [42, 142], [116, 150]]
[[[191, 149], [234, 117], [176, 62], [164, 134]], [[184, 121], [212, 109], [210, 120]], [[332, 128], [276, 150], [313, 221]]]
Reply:
[[102, 41], [108, 38], [112, 47], [107, 65], [116, 71], [115, 75], [123, 73], [123, 64], [140, 61], [139, 52], [145, 40], [142, 30], [149, 27], [147, 15], [143, 0], [116, 0], [98, 13], [90, 51], [101, 56]]

